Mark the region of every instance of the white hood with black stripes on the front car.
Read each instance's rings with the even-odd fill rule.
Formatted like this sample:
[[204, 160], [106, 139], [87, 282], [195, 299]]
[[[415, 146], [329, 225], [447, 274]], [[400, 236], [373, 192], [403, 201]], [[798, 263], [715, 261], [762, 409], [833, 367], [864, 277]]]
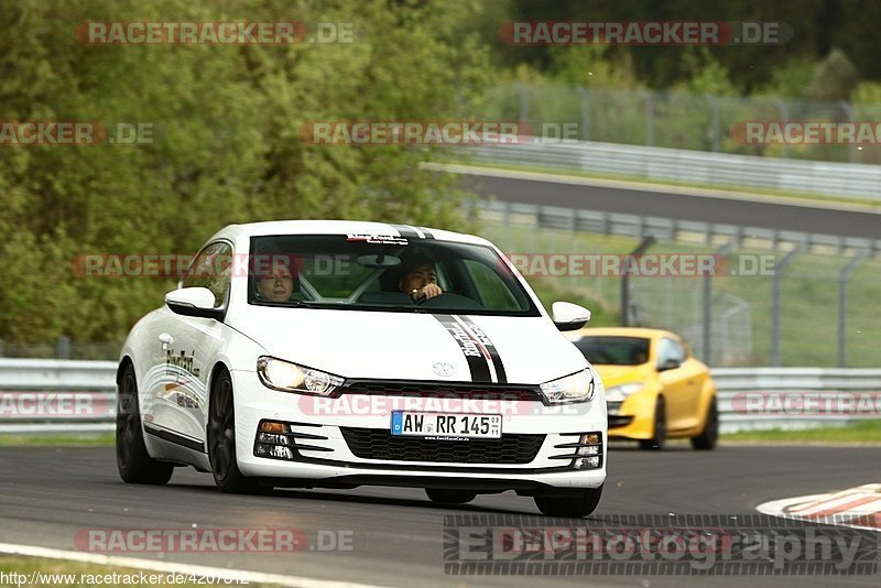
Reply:
[[544, 316], [249, 306], [229, 326], [273, 357], [344, 378], [539, 384], [587, 367]]

